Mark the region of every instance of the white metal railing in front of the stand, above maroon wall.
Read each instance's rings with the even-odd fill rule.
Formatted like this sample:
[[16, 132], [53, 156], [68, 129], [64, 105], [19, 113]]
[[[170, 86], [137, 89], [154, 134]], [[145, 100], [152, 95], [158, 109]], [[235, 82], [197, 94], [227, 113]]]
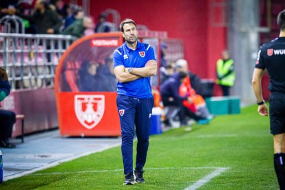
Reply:
[[8, 72], [12, 89], [54, 85], [56, 65], [72, 36], [0, 34], [0, 66]]

